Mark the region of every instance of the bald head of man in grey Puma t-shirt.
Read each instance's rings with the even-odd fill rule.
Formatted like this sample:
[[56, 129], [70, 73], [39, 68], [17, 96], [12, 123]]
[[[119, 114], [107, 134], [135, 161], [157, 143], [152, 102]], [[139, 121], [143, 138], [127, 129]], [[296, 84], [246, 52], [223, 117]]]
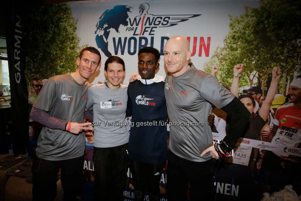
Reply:
[[172, 73], [172, 76], [178, 77], [188, 70], [190, 57], [189, 42], [185, 37], [174, 36], [166, 42], [164, 61], [168, 72]]

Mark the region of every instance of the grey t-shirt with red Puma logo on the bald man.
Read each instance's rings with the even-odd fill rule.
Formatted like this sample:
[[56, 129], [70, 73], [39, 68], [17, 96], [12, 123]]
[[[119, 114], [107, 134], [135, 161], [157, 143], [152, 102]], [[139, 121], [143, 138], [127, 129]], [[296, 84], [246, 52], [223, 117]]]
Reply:
[[[234, 99], [216, 77], [191, 67], [181, 76], [165, 79], [165, 98], [169, 117], [169, 149], [181, 158], [203, 162], [211, 158], [200, 154], [212, 145], [213, 138], [207, 124], [211, 104], [222, 108]], [[192, 123], [193, 122], [193, 123]], [[192, 125], [192, 124], [197, 125]], [[202, 124], [203, 123], [203, 124]]]

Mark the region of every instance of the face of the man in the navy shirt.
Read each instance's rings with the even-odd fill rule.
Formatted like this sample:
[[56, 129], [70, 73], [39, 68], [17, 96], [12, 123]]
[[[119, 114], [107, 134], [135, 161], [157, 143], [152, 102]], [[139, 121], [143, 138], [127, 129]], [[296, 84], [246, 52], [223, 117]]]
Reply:
[[152, 53], [141, 53], [138, 57], [138, 70], [142, 79], [149, 80], [155, 77], [155, 71], [159, 67], [155, 55]]

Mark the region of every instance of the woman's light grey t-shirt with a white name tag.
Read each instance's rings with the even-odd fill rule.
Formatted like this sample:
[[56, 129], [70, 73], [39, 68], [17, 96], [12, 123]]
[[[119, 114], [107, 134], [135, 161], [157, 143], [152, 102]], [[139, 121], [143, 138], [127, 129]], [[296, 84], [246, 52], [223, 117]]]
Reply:
[[118, 89], [110, 89], [105, 84], [89, 88], [86, 110], [93, 105], [95, 147], [114, 147], [129, 142], [125, 120], [127, 90], [128, 86], [123, 84]]

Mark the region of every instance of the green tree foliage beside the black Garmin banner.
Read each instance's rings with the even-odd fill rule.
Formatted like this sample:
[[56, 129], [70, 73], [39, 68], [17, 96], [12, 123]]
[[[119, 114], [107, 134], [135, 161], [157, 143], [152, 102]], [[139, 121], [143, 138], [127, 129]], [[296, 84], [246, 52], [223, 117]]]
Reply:
[[67, 3], [23, 5], [22, 24], [26, 43], [26, 79], [48, 79], [76, 71], [80, 38], [77, 20]]

